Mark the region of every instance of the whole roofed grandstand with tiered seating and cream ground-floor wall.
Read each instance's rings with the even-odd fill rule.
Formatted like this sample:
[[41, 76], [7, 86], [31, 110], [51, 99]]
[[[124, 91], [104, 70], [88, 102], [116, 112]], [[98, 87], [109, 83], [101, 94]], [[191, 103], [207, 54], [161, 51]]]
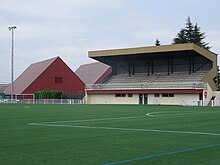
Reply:
[[89, 57], [112, 73], [86, 85], [88, 104], [210, 104], [220, 95], [217, 54], [195, 44], [89, 51]]

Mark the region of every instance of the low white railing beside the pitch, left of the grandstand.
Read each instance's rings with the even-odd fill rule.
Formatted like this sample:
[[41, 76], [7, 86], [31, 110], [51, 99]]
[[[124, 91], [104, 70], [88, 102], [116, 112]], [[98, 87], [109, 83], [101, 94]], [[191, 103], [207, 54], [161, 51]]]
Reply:
[[0, 99], [5, 104], [84, 104], [83, 99]]

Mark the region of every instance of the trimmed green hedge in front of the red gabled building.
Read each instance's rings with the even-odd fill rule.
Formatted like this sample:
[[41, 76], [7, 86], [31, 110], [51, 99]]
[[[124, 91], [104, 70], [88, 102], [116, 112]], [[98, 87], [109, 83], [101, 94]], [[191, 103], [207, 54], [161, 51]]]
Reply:
[[62, 92], [56, 90], [45, 90], [34, 92], [35, 99], [61, 99]]

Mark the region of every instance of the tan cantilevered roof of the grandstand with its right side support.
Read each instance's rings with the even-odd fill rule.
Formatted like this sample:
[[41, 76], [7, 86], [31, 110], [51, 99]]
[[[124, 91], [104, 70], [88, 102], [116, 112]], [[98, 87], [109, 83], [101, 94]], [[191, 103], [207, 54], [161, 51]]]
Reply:
[[202, 79], [208, 82], [212, 90], [216, 90], [213, 78], [217, 74], [217, 54], [209, 50], [201, 48], [193, 43], [188, 44], [172, 44], [162, 46], [135, 47], [125, 49], [110, 49], [89, 51], [89, 57], [103, 63], [111, 65], [112, 60], [119, 59], [138, 59], [138, 58], [160, 58], [160, 57], [178, 57], [179, 55], [190, 57], [192, 55], [203, 56], [212, 62], [212, 68], [209, 73]]

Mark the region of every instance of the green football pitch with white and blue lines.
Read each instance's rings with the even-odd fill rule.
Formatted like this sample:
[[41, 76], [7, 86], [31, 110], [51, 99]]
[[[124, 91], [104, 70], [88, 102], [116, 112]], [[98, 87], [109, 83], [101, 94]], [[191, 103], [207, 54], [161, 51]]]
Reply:
[[220, 107], [0, 104], [1, 165], [217, 165]]

